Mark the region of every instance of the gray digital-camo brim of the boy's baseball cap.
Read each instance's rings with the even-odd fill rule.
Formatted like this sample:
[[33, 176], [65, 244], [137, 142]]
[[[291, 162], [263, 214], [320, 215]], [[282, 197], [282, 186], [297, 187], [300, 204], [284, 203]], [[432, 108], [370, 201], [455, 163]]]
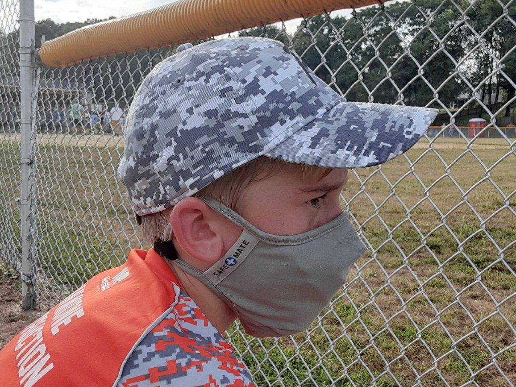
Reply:
[[370, 167], [409, 150], [437, 113], [423, 107], [342, 102], [265, 156], [317, 167]]

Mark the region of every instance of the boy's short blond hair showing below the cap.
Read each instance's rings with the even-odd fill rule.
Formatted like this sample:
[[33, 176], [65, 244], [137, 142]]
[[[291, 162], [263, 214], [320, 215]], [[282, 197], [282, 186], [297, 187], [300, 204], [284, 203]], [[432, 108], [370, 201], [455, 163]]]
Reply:
[[[320, 179], [331, 171], [329, 168], [286, 163], [275, 158], [261, 156], [208, 184], [195, 193], [193, 197], [215, 199], [235, 211], [242, 197], [242, 192], [249, 184], [257, 180], [267, 179], [273, 173], [284, 170], [292, 170], [293, 173], [300, 173], [303, 176], [307, 173], [318, 173]], [[167, 208], [141, 218], [143, 239], [147, 243], [154, 244], [161, 239], [163, 231], [169, 223], [171, 211], [172, 208]]]

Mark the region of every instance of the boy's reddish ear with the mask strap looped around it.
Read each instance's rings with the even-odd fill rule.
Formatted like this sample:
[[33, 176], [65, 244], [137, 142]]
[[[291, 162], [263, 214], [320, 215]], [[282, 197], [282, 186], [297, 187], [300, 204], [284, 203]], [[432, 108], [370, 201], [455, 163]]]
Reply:
[[170, 225], [181, 249], [192, 258], [215, 263], [225, 252], [221, 219], [198, 198], [185, 198], [174, 205]]

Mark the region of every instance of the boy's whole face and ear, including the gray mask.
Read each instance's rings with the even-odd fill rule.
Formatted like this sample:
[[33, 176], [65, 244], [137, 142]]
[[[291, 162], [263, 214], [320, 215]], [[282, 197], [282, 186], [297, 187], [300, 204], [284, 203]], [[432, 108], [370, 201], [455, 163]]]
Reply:
[[[300, 166], [282, 167], [268, 176], [257, 176], [246, 186], [234, 211], [262, 232], [280, 236], [308, 232], [342, 215], [340, 193], [347, 181], [347, 170], [309, 168], [303, 174]], [[315, 235], [317, 230], [303, 237], [272, 238], [278, 243], [268, 244], [267, 236], [260, 232], [253, 234], [247, 230], [247, 234], [243, 233], [239, 222], [231, 220], [233, 216], [230, 209], [219, 211], [198, 198], [185, 198], [174, 206], [170, 221], [174, 246], [180, 257], [174, 261], [174, 268], [179, 269], [176, 271], [178, 278], [189, 286], [188, 291], [203, 294], [198, 297], [200, 302], [212, 308], [214, 318], [222, 321], [219, 330], [227, 329], [237, 314], [246, 332], [256, 337], [281, 336], [305, 329], [344, 283], [349, 263], [346, 263], [346, 254], [341, 254], [343, 243], [340, 239], [350, 244], [351, 256], [360, 250], [356, 240], [343, 234], [346, 221], [349, 223], [347, 217], [342, 216], [335, 226], [333, 223], [328, 225], [330, 229], [325, 228], [319, 235]], [[352, 230], [352, 225], [348, 225]], [[243, 238], [241, 242], [239, 238]], [[287, 241], [282, 243], [283, 239]], [[259, 244], [259, 240], [263, 243]], [[299, 240], [300, 243], [291, 246], [288, 240]], [[230, 266], [236, 262], [228, 263], [228, 257], [235, 256], [235, 244], [240, 244], [242, 249], [245, 249], [243, 245], [250, 247], [245, 252], [239, 250], [243, 254], [238, 255], [240, 264], [248, 257], [249, 265], [235, 266], [237, 269], [233, 271]], [[329, 255], [324, 265], [314, 261], [318, 254]], [[349, 256], [347, 259], [354, 261]], [[209, 270], [213, 267], [219, 274], [224, 273], [219, 267], [228, 269], [225, 277], [216, 283]], [[181, 270], [185, 269], [190, 278], [181, 277], [184, 276]], [[199, 276], [199, 270], [205, 273]], [[193, 278], [209, 287], [192, 282]], [[282, 297], [276, 297], [274, 303], [280, 307], [271, 307], [270, 292], [263, 286], [264, 279], [280, 283], [277, 287], [282, 289]], [[292, 294], [292, 289], [300, 284], [304, 293]], [[217, 292], [213, 291], [213, 286]], [[221, 297], [221, 293], [225, 297]], [[212, 294], [216, 299], [208, 297], [211, 301], [206, 302], [206, 294]], [[239, 302], [245, 304], [245, 308]], [[213, 305], [218, 306], [213, 309]], [[203, 305], [200, 307], [202, 309]], [[285, 311], [289, 311], [288, 316]]]

